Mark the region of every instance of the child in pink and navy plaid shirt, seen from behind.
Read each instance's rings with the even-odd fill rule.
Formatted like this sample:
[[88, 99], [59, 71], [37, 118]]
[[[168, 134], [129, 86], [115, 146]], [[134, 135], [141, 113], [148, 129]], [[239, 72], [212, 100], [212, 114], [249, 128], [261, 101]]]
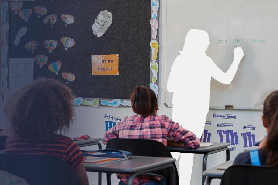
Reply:
[[[200, 140], [179, 123], [169, 120], [167, 116], [157, 115], [158, 101], [155, 93], [148, 87], [137, 86], [131, 94], [131, 105], [136, 115], [125, 117], [104, 134], [103, 144], [112, 138], [153, 139], [165, 146], [198, 148]], [[175, 142], [167, 142], [167, 137]], [[128, 175], [117, 174], [119, 185], [126, 185]], [[141, 175], [133, 180], [134, 185], [165, 185], [165, 180], [156, 176]]]

